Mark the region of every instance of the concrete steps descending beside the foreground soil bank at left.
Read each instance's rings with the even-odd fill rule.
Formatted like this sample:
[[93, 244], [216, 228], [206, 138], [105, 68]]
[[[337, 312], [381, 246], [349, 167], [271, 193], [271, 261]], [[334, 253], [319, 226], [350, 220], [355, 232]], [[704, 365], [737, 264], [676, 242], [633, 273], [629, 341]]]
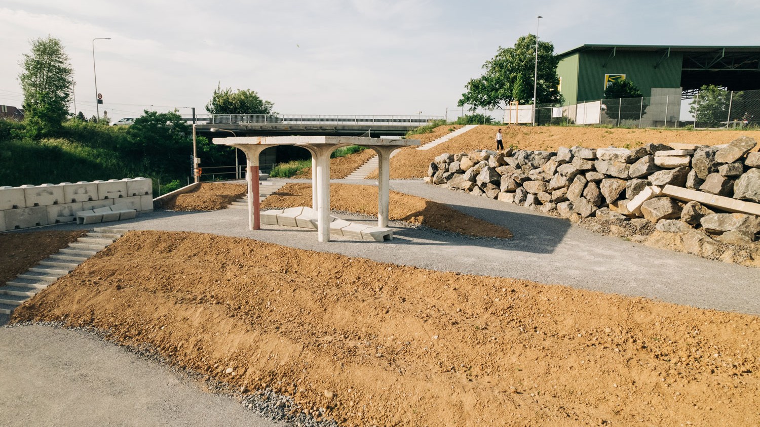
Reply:
[[48, 287], [62, 276], [68, 275], [74, 268], [90, 256], [95, 255], [115, 242], [127, 230], [119, 228], [94, 228], [75, 243], [48, 256], [27, 272], [17, 275], [0, 287], [0, 313], [11, 314], [21, 303], [34, 297], [40, 290]]

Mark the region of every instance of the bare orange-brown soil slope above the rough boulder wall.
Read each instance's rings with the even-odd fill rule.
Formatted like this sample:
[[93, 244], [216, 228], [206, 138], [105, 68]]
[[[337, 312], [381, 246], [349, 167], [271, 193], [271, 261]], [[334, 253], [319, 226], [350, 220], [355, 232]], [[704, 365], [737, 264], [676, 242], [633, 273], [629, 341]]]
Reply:
[[[436, 155], [444, 152], [469, 152], [474, 149], [496, 149], [496, 130], [502, 128], [505, 146], [518, 149], [556, 151], [561, 146], [588, 148], [637, 147], [646, 143], [689, 143], [706, 146], [730, 143], [737, 137], [760, 140], [760, 130], [658, 130], [658, 129], [604, 129], [600, 127], [560, 126], [486, 126], [480, 125], [429, 150], [413, 147], [400, 149], [391, 160], [391, 178], [424, 177], [428, 165]], [[377, 172], [369, 175], [377, 178]]]

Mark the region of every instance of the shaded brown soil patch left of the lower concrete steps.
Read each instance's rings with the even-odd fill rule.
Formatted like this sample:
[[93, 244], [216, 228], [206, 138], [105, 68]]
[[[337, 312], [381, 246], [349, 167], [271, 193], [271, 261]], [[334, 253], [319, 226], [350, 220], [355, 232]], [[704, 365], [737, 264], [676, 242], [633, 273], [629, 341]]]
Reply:
[[75, 242], [87, 230], [0, 233], [0, 286], [47, 256]]

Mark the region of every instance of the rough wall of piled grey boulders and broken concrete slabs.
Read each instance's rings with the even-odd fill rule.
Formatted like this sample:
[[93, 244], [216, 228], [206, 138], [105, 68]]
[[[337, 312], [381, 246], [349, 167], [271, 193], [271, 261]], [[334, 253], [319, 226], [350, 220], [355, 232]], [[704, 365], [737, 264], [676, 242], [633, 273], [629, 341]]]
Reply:
[[649, 143], [636, 149], [556, 152], [479, 150], [442, 154], [426, 181], [563, 218], [596, 217], [699, 230], [732, 244], [760, 232], [760, 153], [739, 137], [694, 149]]

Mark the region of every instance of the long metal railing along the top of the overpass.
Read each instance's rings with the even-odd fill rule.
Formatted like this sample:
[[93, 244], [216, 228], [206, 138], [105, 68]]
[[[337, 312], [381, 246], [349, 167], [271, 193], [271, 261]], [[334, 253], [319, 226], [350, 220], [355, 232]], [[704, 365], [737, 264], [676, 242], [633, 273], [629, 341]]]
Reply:
[[[192, 117], [182, 116], [185, 121]], [[441, 115], [197, 115], [198, 124], [401, 124], [423, 126]]]

